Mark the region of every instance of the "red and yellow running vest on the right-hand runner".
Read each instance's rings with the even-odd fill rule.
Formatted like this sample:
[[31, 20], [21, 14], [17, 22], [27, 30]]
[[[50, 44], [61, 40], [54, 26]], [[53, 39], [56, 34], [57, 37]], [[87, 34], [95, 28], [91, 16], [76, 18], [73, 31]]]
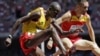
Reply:
[[78, 18], [75, 11], [71, 11], [71, 19], [69, 21], [62, 22], [61, 27], [64, 31], [78, 29], [82, 27], [87, 20], [88, 18], [85, 14]]

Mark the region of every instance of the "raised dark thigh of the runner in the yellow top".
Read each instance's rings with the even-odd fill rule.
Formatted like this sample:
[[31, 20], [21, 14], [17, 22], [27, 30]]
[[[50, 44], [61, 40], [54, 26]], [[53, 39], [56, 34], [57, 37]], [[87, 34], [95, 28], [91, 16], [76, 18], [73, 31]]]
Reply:
[[34, 47], [41, 44], [41, 42], [47, 40], [51, 36], [51, 29], [43, 30], [35, 34], [34, 38], [31, 40], [28, 40], [25, 44], [26, 47]]

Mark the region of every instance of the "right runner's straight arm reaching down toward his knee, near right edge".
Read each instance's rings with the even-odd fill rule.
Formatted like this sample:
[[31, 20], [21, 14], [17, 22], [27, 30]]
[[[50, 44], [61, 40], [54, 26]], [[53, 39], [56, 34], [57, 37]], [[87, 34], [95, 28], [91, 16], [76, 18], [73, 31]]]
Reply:
[[94, 34], [94, 30], [93, 30], [93, 27], [91, 25], [91, 20], [90, 20], [90, 16], [88, 15], [88, 20], [86, 22], [86, 26], [88, 28], [88, 32], [89, 32], [89, 35], [90, 35], [90, 38], [93, 42], [95, 42], [95, 34]]

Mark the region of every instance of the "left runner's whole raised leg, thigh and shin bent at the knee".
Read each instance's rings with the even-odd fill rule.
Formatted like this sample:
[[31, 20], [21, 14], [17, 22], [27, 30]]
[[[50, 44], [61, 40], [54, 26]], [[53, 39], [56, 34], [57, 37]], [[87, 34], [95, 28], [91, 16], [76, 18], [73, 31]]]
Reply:
[[43, 30], [39, 33], [37, 33], [33, 39], [27, 41], [26, 47], [30, 48], [30, 47], [34, 47], [39, 45], [41, 42], [47, 40], [48, 38], [52, 37], [52, 39], [55, 41], [55, 43], [58, 45], [59, 49], [62, 51], [63, 54], [65, 54], [66, 49], [64, 48], [58, 33], [56, 31], [56, 29], [54, 27]]

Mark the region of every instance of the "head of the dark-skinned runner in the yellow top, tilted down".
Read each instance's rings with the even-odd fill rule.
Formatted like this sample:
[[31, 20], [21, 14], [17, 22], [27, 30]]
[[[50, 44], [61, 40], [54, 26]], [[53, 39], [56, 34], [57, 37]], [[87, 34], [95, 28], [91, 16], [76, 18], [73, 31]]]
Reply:
[[61, 7], [59, 5], [59, 3], [57, 2], [52, 2], [49, 6], [49, 8], [47, 9], [47, 15], [54, 18], [56, 17], [56, 15], [61, 11]]

